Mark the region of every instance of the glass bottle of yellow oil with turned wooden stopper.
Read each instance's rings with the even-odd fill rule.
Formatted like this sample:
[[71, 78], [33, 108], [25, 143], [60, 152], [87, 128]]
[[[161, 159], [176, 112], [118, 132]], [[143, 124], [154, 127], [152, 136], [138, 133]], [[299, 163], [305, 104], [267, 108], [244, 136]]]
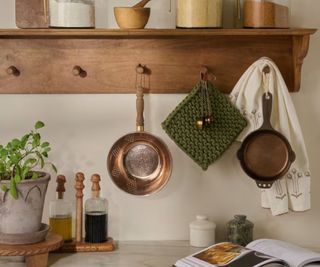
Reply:
[[63, 199], [66, 178], [63, 175], [57, 177], [57, 199], [50, 202], [49, 225], [53, 233], [59, 234], [63, 240], [72, 240], [72, 209], [71, 204]]

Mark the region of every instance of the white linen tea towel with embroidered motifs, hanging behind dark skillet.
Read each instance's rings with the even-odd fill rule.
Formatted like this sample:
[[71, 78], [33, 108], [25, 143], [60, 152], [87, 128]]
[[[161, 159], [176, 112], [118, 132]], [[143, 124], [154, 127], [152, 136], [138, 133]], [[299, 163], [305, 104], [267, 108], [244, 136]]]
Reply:
[[264, 208], [270, 208], [274, 216], [289, 210], [306, 211], [311, 206], [308, 155], [290, 93], [278, 67], [269, 58], [264, 57], [253, 63], [230, 94], [231, 102], [248, 121], [247, 128], [237, 140], [242, 142], [262, 125], [262, 96], [265, 93], [262, 70], [265, 66], [270, 68], [265, 79], [268, 80], [268, 91], [273, 95], [271, 124], [288, 139], [296, 153], [296, 160], [288, 173], [276, 181], [271, 189], [261, 190], [261, 204]]

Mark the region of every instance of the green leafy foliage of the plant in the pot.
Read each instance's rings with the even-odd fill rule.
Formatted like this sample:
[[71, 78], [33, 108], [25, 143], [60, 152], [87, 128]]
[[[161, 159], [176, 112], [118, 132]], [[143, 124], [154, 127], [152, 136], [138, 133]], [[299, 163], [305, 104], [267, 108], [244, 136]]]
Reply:
[[49, 142], [42, 142], [38, 132], [45, 124], [38, 121], [34, 129], [21, 139], [12, 139], [6, 146], [0, 145], [0, 180], [10, 180], [9, 188], [2, 184], [3, 191], [10, 191], [13, 198], [18, 198], [17, 184], [26, 179], [36, 180], [41, 173], [35, 169], [43, 169], [50, 164], [57, 172], [54, 164], [46, 162], [51, 150]]

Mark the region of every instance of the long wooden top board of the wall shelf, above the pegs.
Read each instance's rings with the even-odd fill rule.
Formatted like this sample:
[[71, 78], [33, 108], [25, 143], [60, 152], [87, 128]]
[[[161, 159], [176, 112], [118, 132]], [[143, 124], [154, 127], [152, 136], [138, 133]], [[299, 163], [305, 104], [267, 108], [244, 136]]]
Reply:
[[317, 29], [0, 29], [0, 38], [134, 38], [134, 37], [210, 37], [210, 36], [279, 36], [312, 35]]

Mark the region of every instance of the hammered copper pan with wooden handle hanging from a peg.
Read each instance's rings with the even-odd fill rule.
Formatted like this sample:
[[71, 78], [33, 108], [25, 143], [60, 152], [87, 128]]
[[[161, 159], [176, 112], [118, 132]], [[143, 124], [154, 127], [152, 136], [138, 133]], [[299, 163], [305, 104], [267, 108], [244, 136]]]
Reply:
[[137, 89], [137, 131], [121, 137], [109, 151], [107, 167], [114, 184], [126, 193], [146, 196], [168, 182], [172, 158], [159, 138], [144, 131], [143, 88]]

